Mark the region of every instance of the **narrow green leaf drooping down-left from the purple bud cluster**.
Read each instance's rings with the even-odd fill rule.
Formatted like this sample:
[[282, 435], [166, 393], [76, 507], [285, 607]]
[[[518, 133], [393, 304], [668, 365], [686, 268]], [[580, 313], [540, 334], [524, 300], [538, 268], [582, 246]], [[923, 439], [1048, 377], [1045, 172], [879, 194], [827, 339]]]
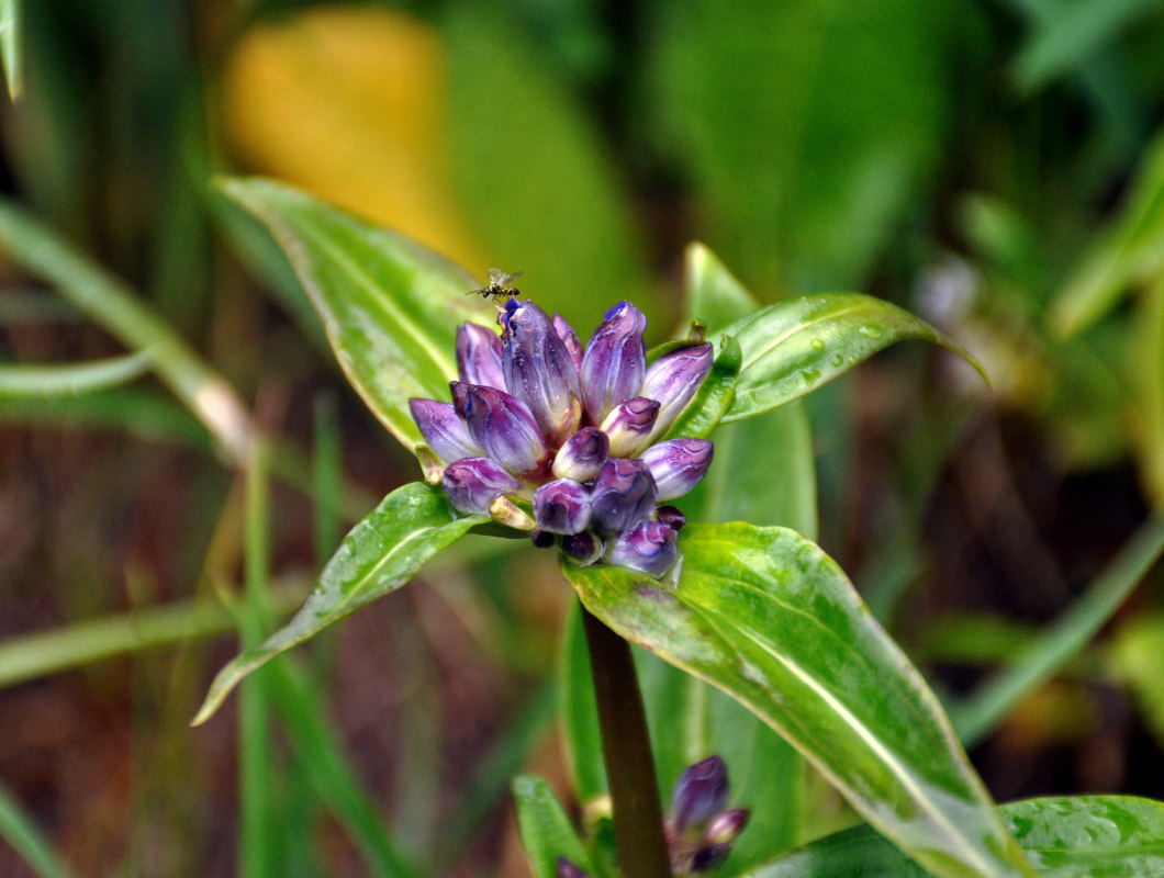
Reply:
[[485, 515], [457, 516], [443, 491], [419, 481], [390, 493], [343, 537], [291, 621], [219, 671], [193, 724], [206, 722], [230, 690], [256, 668], [396, 591], [433, 555], [488, 520]]

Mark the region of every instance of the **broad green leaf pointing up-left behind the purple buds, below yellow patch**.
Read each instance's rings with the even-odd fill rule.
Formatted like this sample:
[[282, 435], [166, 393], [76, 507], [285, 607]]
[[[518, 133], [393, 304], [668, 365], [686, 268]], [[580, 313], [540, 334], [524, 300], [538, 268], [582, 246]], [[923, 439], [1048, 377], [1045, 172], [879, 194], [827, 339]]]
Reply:
[[490, 322], [482, 300], [464, 295], [478, 284], [403, 235], [290, 186], [227, 179], [221, 188], [283, 248], [368, 407], [406, 448], [420, 443], [409, 398], [448, 397], [456, 327]]

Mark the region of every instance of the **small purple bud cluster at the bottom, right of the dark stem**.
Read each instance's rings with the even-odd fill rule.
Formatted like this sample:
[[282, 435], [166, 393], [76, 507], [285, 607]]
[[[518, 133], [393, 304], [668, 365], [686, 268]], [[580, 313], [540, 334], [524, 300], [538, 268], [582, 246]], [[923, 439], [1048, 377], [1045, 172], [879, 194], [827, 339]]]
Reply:
[[729, 808], [728, 794], [728, 768], [718, 756], [690, 765], [680, 776], [666, 820], [676, 878], [710, 872], [728, 857], [750, 815], [746, 808]]

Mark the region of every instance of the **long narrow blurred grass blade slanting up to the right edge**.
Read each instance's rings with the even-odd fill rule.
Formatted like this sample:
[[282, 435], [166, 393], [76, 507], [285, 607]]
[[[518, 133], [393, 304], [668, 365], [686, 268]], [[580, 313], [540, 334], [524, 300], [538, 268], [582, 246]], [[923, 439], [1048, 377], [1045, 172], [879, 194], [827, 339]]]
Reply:
[[1024, 697], [1051, 679], [1120, 608], [1164, 552], [1164, 519], [1151, 519], [1046, 634], [1020, 650], [1009, 668], [988, 680], [950, 716], [967, 747], [977, 743]]

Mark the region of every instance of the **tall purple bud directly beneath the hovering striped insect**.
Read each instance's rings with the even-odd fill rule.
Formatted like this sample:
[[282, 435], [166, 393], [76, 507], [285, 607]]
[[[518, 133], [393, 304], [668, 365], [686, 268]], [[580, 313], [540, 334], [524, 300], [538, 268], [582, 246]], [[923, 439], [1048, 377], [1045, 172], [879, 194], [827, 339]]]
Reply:
[[582, 420], [577, 367], [545, 312], [528, 300], [516, 301], [510, 299], [501, 314], [505, 387], [556, 445]]

